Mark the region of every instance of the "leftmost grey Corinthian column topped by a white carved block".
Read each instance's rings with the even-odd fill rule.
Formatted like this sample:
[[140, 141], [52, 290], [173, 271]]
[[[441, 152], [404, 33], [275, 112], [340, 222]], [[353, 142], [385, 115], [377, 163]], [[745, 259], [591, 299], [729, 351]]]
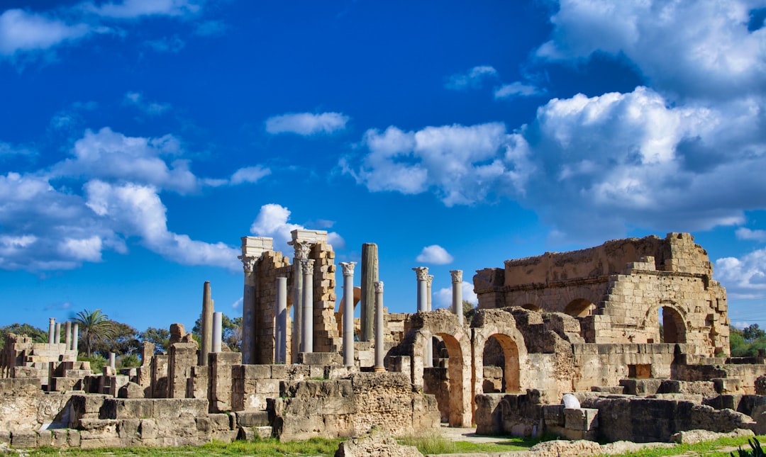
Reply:
[[242, 363], [255, 360], [255, 265], [261, 254], [272, 250], [273, 239], [267, 237], [242, 237], [242, 261], [244, 292], [242, 294]]

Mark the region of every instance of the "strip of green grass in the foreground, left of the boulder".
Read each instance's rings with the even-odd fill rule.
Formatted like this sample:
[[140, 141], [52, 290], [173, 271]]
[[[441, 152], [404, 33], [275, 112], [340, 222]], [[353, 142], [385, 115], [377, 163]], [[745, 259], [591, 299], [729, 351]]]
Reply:
[[205, 446], [185, 446], [178, 448], [117, 448], [117, 449], [33, 449], [25, 455], [62, 455], [83, 456], [110, 455], [114, 457], [152, 457], [154, 455], [171, 457], [191, 457], [192, 455], [335, 455], [342, 439], [313, 438], [307, 441], [280, 442], [279, 439], [261, 439], [253, 442], [235, 441], [229, 444], [212, 442]]

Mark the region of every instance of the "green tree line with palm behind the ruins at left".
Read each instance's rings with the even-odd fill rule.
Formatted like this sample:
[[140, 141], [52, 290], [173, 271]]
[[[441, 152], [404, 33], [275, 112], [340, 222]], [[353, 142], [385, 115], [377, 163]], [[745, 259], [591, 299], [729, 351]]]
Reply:
[[[109, 358], [110, 352], [116, 354], [120, 367], [139, 366], [143, 341], [154, 344], [155, 354], [168, 351], [170, 331], [166, 328], [149, 327], [144, 331], [138, 331], [131, 325], [110, 319], [100, 309], [93, 312], [84, 309], [71, 321], [77, 322], [79, 328], [78, 360], [90, 361], [94, 370], [100, 370], [100, 366], [103, 366]], [[242, 318], [229, 318], [223, 315], [222, 323], [224, 344], [231, 351], [240, 351]], [[200, 341], [201, 327], [201, 318], [199, 318], [191, 329], [191, 334], [197, 341]], [[9, 333], [28, 335], [38, 343], [48, 341], [46, 330], [29, 324], [16, 323], [0, 327], [0, 348], [5, 344], [5, 337]]]

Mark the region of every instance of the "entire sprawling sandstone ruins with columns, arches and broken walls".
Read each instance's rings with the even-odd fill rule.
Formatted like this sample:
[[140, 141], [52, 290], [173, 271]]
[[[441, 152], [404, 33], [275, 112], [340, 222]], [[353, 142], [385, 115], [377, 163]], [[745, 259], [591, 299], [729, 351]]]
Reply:
[[363, 246], [358, 288], [356, 264], [337, 270], [326, 232], [293, 230], [291, 245], [292, 259], [270, 238], [242, 238], [241, 352], [221, 345], [207, 282], [201, 344], [174, 324], [169, 351], [144, 343], [138, 368], [116, 370], [112, 359], [93, 374], [77, 361], [68, 322], [64, 343], [53, 320], [47, 343], [9, 335], [0, 442], [180, 446], [361, 436], [373, 426], [434, 433], [442, 423], [634, 442], [766, 432], [766, 358], [728, 357], [725, 289], [688, 233], [479, 270], [470, 319], [461, 270], [451, 272], [450, 310], [431, 308], [433, 276], [417, 266], [417, 312], [389, 313], [375, 244]]

